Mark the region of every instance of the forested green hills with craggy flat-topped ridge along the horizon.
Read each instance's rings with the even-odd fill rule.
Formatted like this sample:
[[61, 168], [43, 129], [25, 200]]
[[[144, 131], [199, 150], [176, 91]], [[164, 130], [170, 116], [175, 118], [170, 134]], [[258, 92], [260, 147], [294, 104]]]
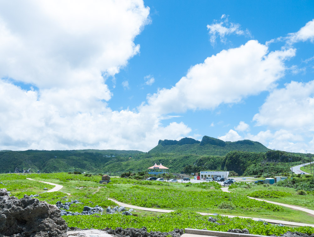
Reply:
[[153, 164], [162, 163], [172, 173], [195, 173], [205, 170], [235, 171], [238, 175], [277, 175], [290, 172], [291, 164], [308, 162], [300, 153], [270, 150], [261, 143], [243, 140], [224, 142], [204, 136], [202, 141], [192, 138], [160, 140], [149, 152], [134, 150], [72, 150], [72, 151], [8, 151], [0, 152], [0, 173], [73, 172], [109, 173], [149, 171]]

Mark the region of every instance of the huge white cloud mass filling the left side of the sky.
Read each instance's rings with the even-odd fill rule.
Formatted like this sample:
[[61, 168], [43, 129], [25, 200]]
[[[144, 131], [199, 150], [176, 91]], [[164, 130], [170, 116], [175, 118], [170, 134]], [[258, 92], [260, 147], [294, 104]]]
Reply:
[[148, 16], [140, 0], [1, 1], [1, 149], [148, 151], [164, 134], [187, 136], [184, 123], [104, 102], [113, 95], [106, 78], [139, 52]]

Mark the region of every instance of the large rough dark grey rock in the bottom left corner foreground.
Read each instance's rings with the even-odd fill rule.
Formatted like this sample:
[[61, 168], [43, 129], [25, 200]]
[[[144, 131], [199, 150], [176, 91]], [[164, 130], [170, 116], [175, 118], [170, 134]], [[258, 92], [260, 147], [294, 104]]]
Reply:
[[67, 237], [67, 224], [60, 210], [51, 204], [30, 198], [10, 197], [0, 189], [0, 237]]

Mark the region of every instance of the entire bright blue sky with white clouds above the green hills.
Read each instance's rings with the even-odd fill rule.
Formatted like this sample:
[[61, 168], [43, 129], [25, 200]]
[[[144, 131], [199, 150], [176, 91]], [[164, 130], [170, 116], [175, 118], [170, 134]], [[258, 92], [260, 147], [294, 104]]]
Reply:
[[314, 151], [312, 1], [0, 4], [0, 150]]

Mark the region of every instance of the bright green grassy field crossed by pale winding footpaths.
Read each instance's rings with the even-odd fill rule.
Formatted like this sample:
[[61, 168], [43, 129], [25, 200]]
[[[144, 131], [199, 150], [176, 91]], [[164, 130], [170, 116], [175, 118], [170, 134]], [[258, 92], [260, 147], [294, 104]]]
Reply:
[[[52, 186], [26, 180], [26, 177], [57, 183], [63, 186], [60, 192], [47, 193], [44, 187], [51, 189]], [[208, 222], [208, 217], [201, 216], [196, 212], [231, 214], [257, 218], [281, 219], [286, 221], [314, 224], [314, 218], [304, 212], [280, 207], [266, 202], [259, 202], [248, 199], [240, 190], [235, 193], [220, 191], [216, 182], [202, 184], [181, 184], [156, 182], [146, 180], [132, 180], [112, 178], [108, 185], [99, 184], [100, 176], [73, 175], [67, 173], [56, 174], [27, 174], [27, 175], [0, 175], [0, 181], [7, 184], [0, 186], [6, 188], [16, 197], [23, 197], [24, 194], [39, 194], [41, 201], [55, 204], [57, 201], [65, 202], [66, 199], [77, 199], [82, 204], [72, 204], [68, 211], [81, 212], [83, 207], [95, 207], [99, 205], [104, 209], [116, 204], [108, 197], [113, 197], [121, 202], [138, 206], [157, 207], [177, 210], [174, 213], [160, 214], [136, 210], [133, 216], [119, 214], [106, 215], [95, 214], [92, 216], [63, 216], [68, 226], [79, 228], [105, 227], [142, 227], [148, 230], [169, 231], [174, 228], [196, 228], [225, 231], [230, 228], [248, 228], [252, 234], [282, 234], [291, 227], [279, 227], [275, 225], [263, 225], [263, 223], [252, 221], [252, 219], [226, 218], [214, 216], [220, 223], [217, 225]], [[1, 184], [0, 184], [1, 185]], [[284, 189], [282, 187], [278, 187]], [[285, 189], [293, 196], [293, 190]], [[253, 191], [253, 189], [252, 189]], [[66, 193], [71, 193], [67, 195]], [[242, 195], [244, 194], [244, 195]], [[302, 197], [303, 198], [303, 197]], [[276, 199], [275, 201], [278, 201]], [[304, 202], [306, 203], [306, 202]], [[310, 205], [310, 204], [309, 204]], [[306, 206], [305, 206], [306, 207]], [[302, 229], [303, 228], [303, 229]], [[302, 233], [314, 233], [314, 228], [301, 227], [297, 229]]]

